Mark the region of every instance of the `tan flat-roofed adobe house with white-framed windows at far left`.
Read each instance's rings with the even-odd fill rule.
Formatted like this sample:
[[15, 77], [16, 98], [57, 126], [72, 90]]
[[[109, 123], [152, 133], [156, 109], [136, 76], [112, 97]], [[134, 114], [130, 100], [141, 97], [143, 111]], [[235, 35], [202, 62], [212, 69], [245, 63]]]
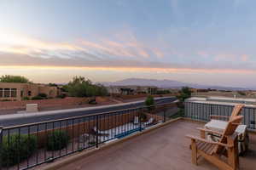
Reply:
[[0, 100], [22, 100], [32, 98], [38, 94], [46, 94], [55, 98], [59, 94], [57, 87], [44, 84], [0, 82]]

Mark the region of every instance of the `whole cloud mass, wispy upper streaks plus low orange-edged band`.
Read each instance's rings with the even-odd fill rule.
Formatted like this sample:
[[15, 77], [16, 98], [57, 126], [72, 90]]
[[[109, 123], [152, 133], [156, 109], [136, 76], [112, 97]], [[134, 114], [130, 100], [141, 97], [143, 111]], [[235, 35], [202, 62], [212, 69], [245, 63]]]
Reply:
[[[9, 35], [8, 41], [1, 39], [1, 36], [6, 35], [0, 34], [0, 67], [15, 65], [78, 69], [111, 68], [117, 71], [131, 69], [187, 73], [255, 71], [255, 63], [247, 63], [248, 54], [212, 52], [205, 49], [194, 49], [195, 52], [189, 53], [166, 46], [163, 50], [159, 48], [159, 44], [154, 46], [140, 41], [132, 31], [119, 31], [111, 38], [99, 37], [95, 41], [80, 38], [74, 42], [49, 42], [20, 34], [17, 34], [17, 37]], [[234, 60], [241, 62], [230, 63]]]

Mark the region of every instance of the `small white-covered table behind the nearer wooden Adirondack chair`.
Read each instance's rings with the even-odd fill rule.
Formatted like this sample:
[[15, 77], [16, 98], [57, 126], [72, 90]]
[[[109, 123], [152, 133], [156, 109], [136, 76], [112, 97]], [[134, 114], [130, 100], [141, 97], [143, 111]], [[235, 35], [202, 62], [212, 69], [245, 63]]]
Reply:
[[[225, 127], [227, 127], [227, 124], [228, 122], [212, 120], [210, 122], [207, 122], [205, 128], [222, 133]], [[238, 150], [239, 154], [241, 155], [247, 151], [249, 145], [247, 126], [238, 125], [238, 127], [236, 128], [236, 133], [238, 133]], [[220, 136], [218, 134], [216, 135], [212, 133], [207, 133], [206, 135], [207, 139], [212, 139], [212, 141], [218, 141], [220, 139]]]

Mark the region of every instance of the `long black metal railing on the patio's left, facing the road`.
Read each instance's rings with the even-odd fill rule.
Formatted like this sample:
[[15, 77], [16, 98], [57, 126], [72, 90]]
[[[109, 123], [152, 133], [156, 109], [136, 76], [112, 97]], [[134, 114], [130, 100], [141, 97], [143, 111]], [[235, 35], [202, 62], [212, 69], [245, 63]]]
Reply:
[[0, 170], [28, 169], [166, 121], [173, 103], [0, 127]]

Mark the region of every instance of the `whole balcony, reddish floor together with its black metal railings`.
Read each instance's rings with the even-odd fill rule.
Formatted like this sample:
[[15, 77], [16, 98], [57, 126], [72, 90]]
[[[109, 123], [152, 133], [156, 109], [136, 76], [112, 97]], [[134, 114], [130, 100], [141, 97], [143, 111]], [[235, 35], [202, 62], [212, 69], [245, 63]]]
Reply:
[[[199, 166], [191, 163], [190, 139], [185, 135], [199, 135], [196, 128], [203, 127], [210, 114], [230, 116], [233, 106], [186, 103], [184, 117], [170, 119], [175, 108], [170, 103], [3, 127], [0, 149], [17, 147], [11, 152], [15, 157], [0, 155], [5, 160], [0, 169], [218, 169], [204, 159]], [[245, 170], [256, 167], [255, 113], [253, 107], [241, 111], [250, 131], [249, 150], [240, 156], [240, 167]], [[67, 144], [57, 143], [50, 149], [49, 137], [60, 132], [69, 136]], [[24, 139], [20, 137], [36, 142], [35, 150], [26, 157], [21, 156]]]

